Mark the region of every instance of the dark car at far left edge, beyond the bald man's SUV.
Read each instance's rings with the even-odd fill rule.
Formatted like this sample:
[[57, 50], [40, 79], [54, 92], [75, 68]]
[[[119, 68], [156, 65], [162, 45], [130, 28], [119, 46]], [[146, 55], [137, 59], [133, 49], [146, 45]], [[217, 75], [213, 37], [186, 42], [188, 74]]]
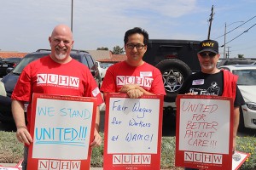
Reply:
[[20, 57], [11, 57], [0, 61], [0, 77], [7, 75], [7, 68], [14, 68], [21, 60]]

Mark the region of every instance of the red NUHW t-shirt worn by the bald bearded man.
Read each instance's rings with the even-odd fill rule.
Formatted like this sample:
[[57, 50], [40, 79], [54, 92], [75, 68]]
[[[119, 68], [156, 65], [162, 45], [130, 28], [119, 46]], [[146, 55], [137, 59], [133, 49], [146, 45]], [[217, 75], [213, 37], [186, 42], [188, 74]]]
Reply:
[[85, 65], [75, 59], [67, 64], [59, 64], [49, 55], [25, 67], [12, 94], [12, 99], [29, 102], [28, 128], [32, 114], [32, 93], [96, 97], [97, 105], [103, 102], [96, 81]]

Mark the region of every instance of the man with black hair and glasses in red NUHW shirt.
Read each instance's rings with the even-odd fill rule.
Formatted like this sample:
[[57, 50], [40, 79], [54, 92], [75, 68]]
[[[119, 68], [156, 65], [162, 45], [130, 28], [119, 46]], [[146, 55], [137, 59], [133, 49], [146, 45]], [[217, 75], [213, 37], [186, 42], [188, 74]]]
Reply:
[[143, 61], [148, 32], [135, 27], [125, 32], [124, 42], [127, 59], [108, 68], [101, 88], [104, 98], [107, 93], [128, 94], [132, 99], [143, 94], [166, 95], [160, 71]]

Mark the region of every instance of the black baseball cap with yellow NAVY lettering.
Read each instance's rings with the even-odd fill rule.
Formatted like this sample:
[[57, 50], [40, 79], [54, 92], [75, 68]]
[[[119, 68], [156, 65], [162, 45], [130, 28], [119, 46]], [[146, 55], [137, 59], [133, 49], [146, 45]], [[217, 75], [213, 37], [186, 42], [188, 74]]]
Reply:
[[214, 40], [204, 40], [200, 42], [199, 52], [210, 51], [212, 53], [218, 54], [218, 42]]

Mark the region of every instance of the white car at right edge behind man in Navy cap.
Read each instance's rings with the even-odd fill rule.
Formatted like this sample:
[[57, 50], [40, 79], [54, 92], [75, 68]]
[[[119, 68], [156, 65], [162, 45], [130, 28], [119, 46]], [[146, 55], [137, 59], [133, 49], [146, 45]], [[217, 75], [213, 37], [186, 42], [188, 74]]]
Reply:
[[241, 106], [240, 126], [256, 129], [256, 65], [224, 65], [219, 69], [239, 76], [237, 86], [246, 102]]

